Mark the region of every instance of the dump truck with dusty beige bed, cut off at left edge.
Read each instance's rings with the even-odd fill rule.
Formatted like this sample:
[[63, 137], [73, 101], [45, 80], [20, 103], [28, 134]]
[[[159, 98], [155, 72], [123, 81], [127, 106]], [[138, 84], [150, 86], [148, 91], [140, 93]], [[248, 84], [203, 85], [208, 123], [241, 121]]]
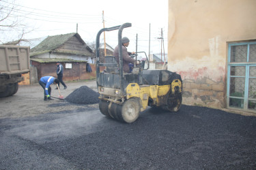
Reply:
[[29, 73], [29, 50], [27, 46], [0, 45], [0, 97], [14, 95], [18, 82]]

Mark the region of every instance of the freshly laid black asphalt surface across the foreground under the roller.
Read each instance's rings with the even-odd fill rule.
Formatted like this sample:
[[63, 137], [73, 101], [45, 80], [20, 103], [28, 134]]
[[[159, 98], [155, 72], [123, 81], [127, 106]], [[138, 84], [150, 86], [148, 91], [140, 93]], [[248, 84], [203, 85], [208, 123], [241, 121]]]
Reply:
[[89, 106], [3, 118], [0, 169], [256, 169], [256, 117], [182, 105], [132, 124]]

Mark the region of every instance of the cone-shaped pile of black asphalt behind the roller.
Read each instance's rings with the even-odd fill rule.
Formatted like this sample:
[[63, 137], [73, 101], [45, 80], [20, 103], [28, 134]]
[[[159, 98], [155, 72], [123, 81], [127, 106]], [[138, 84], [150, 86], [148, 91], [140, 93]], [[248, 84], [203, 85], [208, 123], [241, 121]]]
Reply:
[[68, 97], [66, 97], [66, 101], [78, 105], [89, 105], [99, 103], [99, 93], [91, 90], [91, 88], [87, 86], [81, 86], [74, 90]]

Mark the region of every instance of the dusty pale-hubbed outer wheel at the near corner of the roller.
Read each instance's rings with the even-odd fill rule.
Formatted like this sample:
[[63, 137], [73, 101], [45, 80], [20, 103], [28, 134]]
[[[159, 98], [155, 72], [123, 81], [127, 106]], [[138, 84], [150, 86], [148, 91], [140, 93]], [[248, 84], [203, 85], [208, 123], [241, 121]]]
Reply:
[[139, 112], [140, 112], [140, 105], [139, 101], [136, 98], [128, 99], [124, 102], [124, 105], [122, 106], [122, 119], [124, 122], [134, 122], [139, 118]]

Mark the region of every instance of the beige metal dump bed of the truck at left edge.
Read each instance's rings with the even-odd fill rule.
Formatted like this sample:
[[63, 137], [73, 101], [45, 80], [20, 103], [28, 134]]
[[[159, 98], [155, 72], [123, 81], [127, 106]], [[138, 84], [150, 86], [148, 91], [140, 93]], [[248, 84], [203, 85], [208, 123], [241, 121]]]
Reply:
[[0, 75], [29, 72], [29, 47], [0, 45]]

